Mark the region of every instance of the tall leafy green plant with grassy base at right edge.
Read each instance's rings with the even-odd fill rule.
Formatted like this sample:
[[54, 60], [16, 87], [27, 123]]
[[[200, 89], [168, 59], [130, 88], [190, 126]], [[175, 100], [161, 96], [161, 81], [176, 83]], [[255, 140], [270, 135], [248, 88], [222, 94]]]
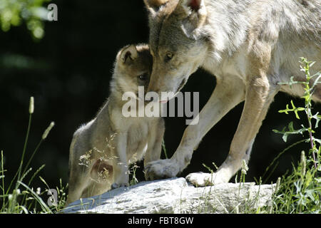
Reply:
[[[299, 142], [307, 142], [309, 150], [307, 156], [305, 152], [301, 153], [301, 160], [297, 167], [293, 165], [292, 174], [283, 176], [280, 184], [280, 189], [276, 192], [274, 197], [274, 211], [275, 213], [320, 213], [321, 212], [321, 140], [315, 138], [315, 129], [321, 120], [319, 113], [312, 113], [312, 94], [318, 83], [321, 83], [320, 72], [310, 76], [310, 67], [315, 62], [307, 61], [306, 58], [301, 58], [303, 66], [301, 71], [305, 73], [306, 81], [293, 81], [293, 77], [288, 84], [302, 84], [305, 88], [305, 94], [302, 98], [305, 100], [305, 107], [296, 107], [291, 100], [292, 108], [286, 105], [284, 110], [279, 113], [294, 113], [298, 120], [300, 119], [300, 112], [305, 112], [307, 123], [301, 124], [300, 129], [295, 129], [293, 123], [290, 122], [287, 128], [282, 130], [273, 130], [275, 133], [282, 134], [282, 139], [286, 142], [289, 135], [305, 135], [307, 138]], [[313, 123], [314, 122], [314, 123]], [[297, 145], [297, 143], [295, 143]], [[292, 146], [290, 146], [292, 147]], [[290, 147], [287, 147], [289, 149]], [[286, 150], [287, 150], [286, 149]], [[285, 150], [283, 151], [285, 152]]]

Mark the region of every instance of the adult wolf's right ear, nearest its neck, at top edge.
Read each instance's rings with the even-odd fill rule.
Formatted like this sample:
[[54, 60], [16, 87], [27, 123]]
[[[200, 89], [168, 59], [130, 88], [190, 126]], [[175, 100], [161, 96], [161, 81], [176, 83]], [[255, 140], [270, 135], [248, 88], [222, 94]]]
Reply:
[[190, 37], [197, 36], [197, 30], [205, 23], [208, 11], [204, 0], [180, 0], [175, 14], [180, 15], [183, 20], [183, 31]]

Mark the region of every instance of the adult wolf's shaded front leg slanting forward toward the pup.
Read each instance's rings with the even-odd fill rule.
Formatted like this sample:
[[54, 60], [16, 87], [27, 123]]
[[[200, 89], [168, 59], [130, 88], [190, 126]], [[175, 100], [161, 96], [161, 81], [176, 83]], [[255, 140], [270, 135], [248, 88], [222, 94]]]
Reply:
[[173, 157], [146, 165], [146, 179], [175, 177], [190, 163], [193, 150], [198, 147], [208, 130], [244, 98], [245, 86], [239, 78], [224, 76], [223, 79], [218, 79], [213, 94], [199, 114], [199, 123], [188, 125]]

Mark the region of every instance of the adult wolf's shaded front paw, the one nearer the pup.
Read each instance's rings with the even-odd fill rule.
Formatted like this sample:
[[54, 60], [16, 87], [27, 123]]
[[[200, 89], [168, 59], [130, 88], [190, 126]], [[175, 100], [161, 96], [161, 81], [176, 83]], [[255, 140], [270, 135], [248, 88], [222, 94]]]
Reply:
[[176, 177], [179, 165], [170, 159], [149, 162], [145, 167], [145, 179], [157, 180]]

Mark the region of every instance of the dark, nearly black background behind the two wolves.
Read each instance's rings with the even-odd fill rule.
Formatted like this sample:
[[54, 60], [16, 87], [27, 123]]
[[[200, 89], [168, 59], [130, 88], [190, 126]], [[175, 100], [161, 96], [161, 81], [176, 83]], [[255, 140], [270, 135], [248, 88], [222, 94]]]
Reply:
[[[0, 150], [4, 150], [6, 184], [19, 167], [21, 152], [29, 118], [29, 98], [34, 96], [35, 112], [27, 157], [33, 152], [42, 133], [53, 120], [56, 125], [41, 145], [31, 167], [40, 172], [49, 187], [58, 185], [59, 178], [68, 182], [68, 149], [73, 132], [94, 115], [108, 96], [113, 61], [118, 50], [130, 43], [148, 42], [147, 12], [143, 1], [51, 1], [58, 6], [58, 21], [45, 24], [45, 36], [35, 42], [26, 26], [13, 27], [9, 32], [0, 31]], [[308, 56], [307, 56], [308, 58]], [[298, 66], [299, 68], [299, 63]], [[215, 78], [199, 70], [190, 77], [183, 91], [200, 92], [200, 108], [215, 88]], [[277, 113], [294, 99], [279, 93], [272, 103], [267, 118], [255, 140], [246, 181], [259, 179], [265, 169], [285, 147], [302, 137], [290, 136], [288, 142], [281, 130], [290, 121], [295, 128], [306, 123], [304, 115], [297, 122], [294, 115]], [[228, 154], [230, 142], [238, 125], [243, 103], [230, 111], [203, 138], [194, 152], [190, 165], [180, 176], [189, 172], [207, 172], [203, 164], [220, 165]], [[320, 110], [315, 105], [315, 111]], [[165, 146], [168, 155], [178, 147], [185, 129], [185, 118], [165, 118]], [[320, 138], [320, 130], [317, 130]], [[270, 178], [271, 182], [291, 170], [292, 162], [300, 157], [307, 144], [285, 152]], [[295, 162], [296, 164], [296, 162]], [[143, 180], [143, 164], [136, 172]], [[214, 168], [214, 167], [213, 167]], [[265, 175], [266, 177], [267, 175]], [[234, 182], [234, 180], [231, 180]], [[44, 187], [35, 180], [33, 187]]]

